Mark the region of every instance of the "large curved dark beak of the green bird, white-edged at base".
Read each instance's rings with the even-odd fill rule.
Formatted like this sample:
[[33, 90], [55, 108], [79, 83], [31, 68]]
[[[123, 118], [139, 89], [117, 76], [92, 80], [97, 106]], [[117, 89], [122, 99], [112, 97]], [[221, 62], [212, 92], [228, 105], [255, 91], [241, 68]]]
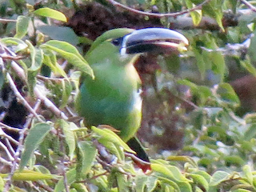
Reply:
[[174, 51], [186, 50], [189, 41], [183, 34], [164, 28], [146, 28], [134, 30], [122, 41], [122, 54], [170, 54]]

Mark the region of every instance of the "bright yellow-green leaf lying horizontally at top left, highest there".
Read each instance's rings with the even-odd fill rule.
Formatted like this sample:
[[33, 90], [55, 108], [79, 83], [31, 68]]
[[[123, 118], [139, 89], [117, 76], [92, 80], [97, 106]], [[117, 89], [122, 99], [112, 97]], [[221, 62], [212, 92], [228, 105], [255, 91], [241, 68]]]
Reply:
[[59, 12], [58, 10], [53, 10], [48, 7], [40, 8], [38, 10], [34, 10], [33, 12], [35, 15], [48, 17], [48, 18], [54, 18], [61, 22], [67, 22], [65, 14], [62, 14], [62, 12]]

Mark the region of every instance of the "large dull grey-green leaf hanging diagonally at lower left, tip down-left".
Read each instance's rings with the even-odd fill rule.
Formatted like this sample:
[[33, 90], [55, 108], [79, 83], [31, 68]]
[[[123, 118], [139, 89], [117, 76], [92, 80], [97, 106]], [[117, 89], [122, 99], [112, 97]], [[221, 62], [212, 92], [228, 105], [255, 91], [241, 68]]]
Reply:
[[28, 135], [25, 138], [25, 148], [22, 153], [21, 162], [19, 164], [19, 170], [23, 170], [27, 162], [30, 160], [34, 154], [39, 144], [46, 137], [46, 134], [49, 133], [51, 126], [47, 123], [37, 123], [29, 131]]

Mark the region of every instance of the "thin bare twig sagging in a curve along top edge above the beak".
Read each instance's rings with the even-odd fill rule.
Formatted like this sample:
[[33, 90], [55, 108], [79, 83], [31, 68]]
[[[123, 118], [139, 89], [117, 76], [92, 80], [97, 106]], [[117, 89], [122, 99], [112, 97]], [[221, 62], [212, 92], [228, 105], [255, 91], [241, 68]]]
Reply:
[[114, 0], [107, 0], [107, 1], [110, 2], [113, 6], [122, 7], [123, 9], [129, 10], [129, 11], [134, 12], [136, 14], [143, 14], [143, 15], [146, 15], [146, 16], [149, 16], [149, 17], [155, 17], [155, 18], [163, 18], [163, 17], [177, 17], [178, 15], [186, 14], [186, 13], [192, 12], [194, 10], [200, 10], [200, 9], [202, 9], [203, 5], [205, 5], [206, 3], [210, 2], [211, 0], [206, 0], [206, 1], [202, 2], [202, 3], [200, 3], [198, 6], [194, 6], [191, 9], [182, 10], [180, 12], [170, 13], [170, 14], [148, 13], [148, 12], [144, 12], [144, 11], [141, 11], [141, 10], [135, 10], [133, 8], [130, 8], [129, 6], [125, 6], [125, 5], [123, 5], [123, 4], [119, 3], [119, 2], [116, 2]]

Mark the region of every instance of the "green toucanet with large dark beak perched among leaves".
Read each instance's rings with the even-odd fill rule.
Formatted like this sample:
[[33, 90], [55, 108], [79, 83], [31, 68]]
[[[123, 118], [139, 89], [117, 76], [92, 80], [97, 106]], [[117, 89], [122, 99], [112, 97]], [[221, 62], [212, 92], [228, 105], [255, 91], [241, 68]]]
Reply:
[[186, 50], [188, 44], [184, 35], [166, 28], [119, 28], [99, 36], [85, 55], [94, 78], [82, 75], [75, 101], [86, 126], [109, 125], [120, 130], [119, 137], [138, 158], [149, 162], [135, 138], [142, 121], [142, 98], [141, 79], [133, 64], [141, 54], [170, 54]]

